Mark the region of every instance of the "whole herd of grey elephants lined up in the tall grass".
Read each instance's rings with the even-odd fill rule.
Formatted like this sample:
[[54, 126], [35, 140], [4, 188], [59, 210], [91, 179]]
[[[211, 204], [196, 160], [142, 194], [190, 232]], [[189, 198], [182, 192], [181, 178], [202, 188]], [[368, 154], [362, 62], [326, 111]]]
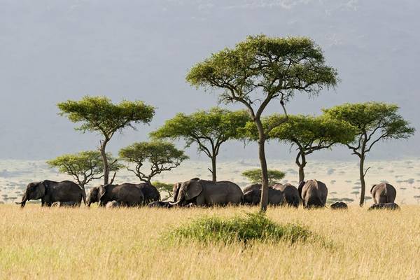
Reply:
[[[22, 201], [25, 207], [28, 200], [41, 200], [41, 206], [80, 207], [81, 202], [87, 207], [98, 203], [99, 207], [214, 207], [226, 205], [257, 205], [261, 198], [261, 185], [253, 184], [243, 190], [230, 181], [207, 181], [199, 178], [174, 184], [174, 200], [160, 200], [158, 189], [151, 183], [123, 183], [94, 187], [86, 197], [85, 190], [71, 181], [41, 181], [29, 183]], [[388, 183], [379, 183], [370, 190], [374, 204], [371, 209], [399, 209], [394, 203], [396, 190]], [[268, 189], [268, 203], [273, 206], [316, 208], [325, 207], [328, 188], [317, 180], [302, 181], [296, 188], [289, 183], [276, 183]], [[344, 202], [335, 202], [331, 209], [346, 209]]]

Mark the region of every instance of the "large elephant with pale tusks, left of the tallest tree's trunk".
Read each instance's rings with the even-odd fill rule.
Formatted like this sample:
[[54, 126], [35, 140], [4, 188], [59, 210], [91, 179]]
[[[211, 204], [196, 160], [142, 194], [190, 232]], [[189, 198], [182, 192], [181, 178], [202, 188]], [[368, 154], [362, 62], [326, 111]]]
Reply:
[[[175, 195], [174, 195], [175, 197]], [[244, 193], [237, 184], [230, 181], [189, 180], [181, 183], [176, 190], [176, 200], [172, 205], [185, 206], [193, 203], [197, 206], [216, 206], [241, 204]]]

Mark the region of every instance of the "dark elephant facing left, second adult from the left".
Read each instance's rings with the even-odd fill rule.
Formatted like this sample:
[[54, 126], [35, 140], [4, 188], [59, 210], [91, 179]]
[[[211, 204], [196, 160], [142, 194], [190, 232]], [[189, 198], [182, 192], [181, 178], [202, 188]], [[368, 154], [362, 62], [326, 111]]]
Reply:
[[144, 204], [143, 190], [139, 185], [131, 183], [94, 187], [87, 197], [87, 207], [94, 202], [99, 202], [99, 207], [104, 207], [106, 203], [113, 200], [119, 202], [121, 206], [141, 206]]

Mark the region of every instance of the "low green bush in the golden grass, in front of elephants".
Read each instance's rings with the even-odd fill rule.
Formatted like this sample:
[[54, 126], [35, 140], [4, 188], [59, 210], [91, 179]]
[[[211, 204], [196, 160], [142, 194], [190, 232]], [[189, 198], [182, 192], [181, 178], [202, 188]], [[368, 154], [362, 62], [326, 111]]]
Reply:
[[280, 225], [264, 214], [246, 214], [233, 218], [204, 217], [169, 232], [169, 239], [204, 243], [221, 241], [307, 241], [314, 234], [302, 225]]

